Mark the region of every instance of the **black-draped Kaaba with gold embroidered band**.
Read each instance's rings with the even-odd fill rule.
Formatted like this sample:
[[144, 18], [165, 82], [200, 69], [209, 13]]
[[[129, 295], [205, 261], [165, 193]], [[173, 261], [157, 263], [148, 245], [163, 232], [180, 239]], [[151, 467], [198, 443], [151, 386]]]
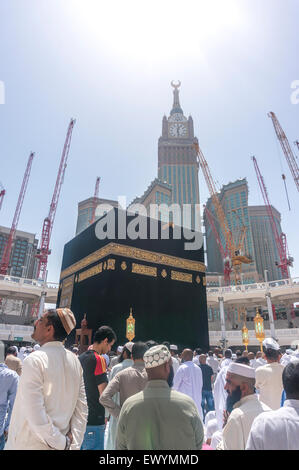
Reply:
[[[99, 237], [104, 217], [107, 225], [107, 217], [114, 223], [106, 238]], [[130, 224], [140, 225], [141, 219], [137, 224], [134, 219], [132, 213], [113, 208], [65, 245], [57, 307], [73, 311], [77, 328], [85, 314], [93, 332], [102, 325], [112, 327], [118, 344], [127, 341], [126, 319], [132, 309], [134, 341], [169, 341], [207, 351], [204, 251], [202, 246], [186, 249], [195, 232], [142, 217], [146, 229], [138, 237], [134, 231], [128, 236]], [[71, 335], [68, 342], [74, 343]]]

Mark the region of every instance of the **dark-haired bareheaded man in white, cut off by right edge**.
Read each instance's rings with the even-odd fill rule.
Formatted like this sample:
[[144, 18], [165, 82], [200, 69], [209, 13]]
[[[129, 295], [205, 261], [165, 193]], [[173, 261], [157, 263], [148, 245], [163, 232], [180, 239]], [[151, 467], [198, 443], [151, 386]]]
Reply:
[[260, 414], [249, 433], [246, 450], [299, 450], [299, 361], [282, 373], [286, 401], [282, 408]]

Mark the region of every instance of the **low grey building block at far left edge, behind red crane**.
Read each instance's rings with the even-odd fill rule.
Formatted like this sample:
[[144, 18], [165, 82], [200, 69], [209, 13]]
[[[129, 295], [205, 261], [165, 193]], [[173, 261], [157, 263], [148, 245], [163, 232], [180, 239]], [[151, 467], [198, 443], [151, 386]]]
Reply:
[[[0, 259], [8, 241], [10, 229], [0, 226]], [[38, 240], [35, 234], [17, 230], [13, 241], [8, 273], [11, 276], [34, 279], [37, 271]]]

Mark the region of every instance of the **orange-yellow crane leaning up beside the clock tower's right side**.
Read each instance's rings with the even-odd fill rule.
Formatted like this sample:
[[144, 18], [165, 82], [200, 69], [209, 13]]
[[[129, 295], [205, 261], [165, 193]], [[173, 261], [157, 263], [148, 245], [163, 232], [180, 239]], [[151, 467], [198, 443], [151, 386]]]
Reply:
[[[243, 251], [243, 245], [242, 244], [241, 245], [240, 244], [236, 245], [236, 243], [234, 241], [234, 238], [233, 238], [233, 235], [232, 235], [232, 232], [231, 232], [231, 230], [228, 226], [228, 222], [227, 222], [227, 219], [225, 217], [222, 205], [219, 201], [216, 185], [215, 185], [215, 182], [212, 178], [210, 168], [207, 164], [207, 161], [206, 161], [199, 145], [196, 143], [196, 144], [194, 144], [194, 147], [195, 147], [195, 150], [196, 150], [196, 153], [197, 153], [198, 162], [199, 162], [200, 167], [202, 169], [202, 172], [204, 174], [204, 177], [205, 177], [205, 180], [206, 180], [206, 183], [207, 183], [210, 195], [211, 195], [212, 203], [213, 203], [216, 215], [217, 215], [217, 219], [218, 219], [219, 224], [220, 224], [221, 231], [223, 233], [223, 236], [224, 236], [224, 239], [225, 239], [225, 242], [226, 242], [229, 258], [230, 258], [231, 265], [232, 265], [232, 270], [233, 270], [233, 273], [234, 273], [235, 284], [240, 284], [242, 264], [250, 264], [252, 262], [252, 259], [249, 256], [246, 256], [246, 255], [242, 254], [242, 251]], [[239, 242], [240, 241], [242, 243], [244, 243], [244, 238], [239, 240]]]

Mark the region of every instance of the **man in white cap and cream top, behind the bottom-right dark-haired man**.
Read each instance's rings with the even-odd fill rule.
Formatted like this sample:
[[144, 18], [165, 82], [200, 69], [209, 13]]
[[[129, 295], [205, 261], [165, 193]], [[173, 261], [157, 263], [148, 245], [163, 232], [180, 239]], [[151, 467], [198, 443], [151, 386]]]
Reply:
[[263, 347], [267, 364], [256, 369], [255, 386], [259, 392], [260, 400], [272, 410], [277, 410], [280, 408], [283, 391], [282, 372], [284, 366], [280, 364], [280, 347], [272, 338], [266, 338], [263, 341]]

